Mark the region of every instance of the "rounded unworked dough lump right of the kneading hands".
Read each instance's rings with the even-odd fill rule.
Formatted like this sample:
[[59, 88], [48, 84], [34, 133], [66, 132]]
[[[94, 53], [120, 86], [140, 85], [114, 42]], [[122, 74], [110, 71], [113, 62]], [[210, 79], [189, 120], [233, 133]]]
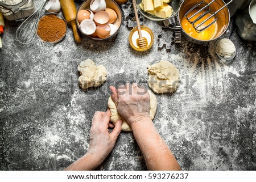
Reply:
[[147, 67], [148, 85], [155, 93], [171, 93], [179, 86], [179, 71], [171, 62], [160, 61]]

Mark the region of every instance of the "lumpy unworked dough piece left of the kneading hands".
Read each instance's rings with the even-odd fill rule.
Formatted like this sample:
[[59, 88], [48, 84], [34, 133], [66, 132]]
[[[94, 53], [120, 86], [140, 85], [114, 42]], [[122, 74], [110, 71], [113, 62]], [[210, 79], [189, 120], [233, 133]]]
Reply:
[[77, 69], [81, 74], [79, 77], [79, 85], [85, 90], [89, 87], [100, 86], [106, 81], [106, 67], [103, 65], [96, 66], [90, 59], [82, 61]]

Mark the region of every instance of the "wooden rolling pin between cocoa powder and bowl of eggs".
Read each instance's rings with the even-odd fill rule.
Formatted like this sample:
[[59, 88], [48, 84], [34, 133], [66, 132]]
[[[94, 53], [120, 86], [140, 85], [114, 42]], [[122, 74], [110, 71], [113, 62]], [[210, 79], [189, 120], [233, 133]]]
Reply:
[[60, 0], [61, 10], [67, 23], [72, 26], [75, 40], [77, 43], [82, 41], [76, 25], [76, 6], [74, 0]]

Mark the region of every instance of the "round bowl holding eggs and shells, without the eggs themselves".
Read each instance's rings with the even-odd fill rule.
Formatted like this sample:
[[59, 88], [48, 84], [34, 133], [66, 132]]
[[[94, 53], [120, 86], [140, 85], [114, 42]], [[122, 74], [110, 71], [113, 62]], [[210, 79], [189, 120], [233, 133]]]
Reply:
[[[115, 27], [117, 27], [117, 30], [112, 35], [110, 35], [106, 38], [103, 38], [103, 39], [102, 38], [95, 38], [95, 37], [92, 37], [90, 35], [86, 35], [92, 40], [104, 41], [104, 40], [111, 39], [112, 37], [114, 37], [117, 34], [117, 32], [119, 31], [119, 29], [121, 27], [123, 19], [122, 19], [122, 12], [121, 12], [120, 7], [117, 5], [117, 3], [114, 2], [114, 0], [105, 0], [105, 1], [106, 1], [106, 7], [107, 8], [113, 9], [113, 10], [115, 10], [115, 12], [117, 12], [117, 20], [115, 20], [115, 22], [113, 23], [115, 25]], [[90, 10], [90, 2], [91, 2], [91, 0], [87, 0], [87, 1], [83, 2], [81, 4], [81, 6], [79, 7], [79, 10], [77, 11], [77, 13], [80, 10]], [[78, 19], [77, 19], [77, 14], [76, 14], [76, 24], [77, 24], [77, 27], [80, 29], [80, 32], [82, 33], [80, 23], [78, 22]], [[84, 33], [82, 33], [82, 34], [84, 34]]]

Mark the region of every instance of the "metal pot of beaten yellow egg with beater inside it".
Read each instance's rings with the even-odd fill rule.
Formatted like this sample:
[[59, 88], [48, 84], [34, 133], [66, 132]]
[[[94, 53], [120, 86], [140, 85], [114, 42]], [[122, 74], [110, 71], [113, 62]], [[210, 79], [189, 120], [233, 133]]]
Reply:
[[197, 44], [208, 43], [220, 37], [229, 26], [229, 3], [222, 0], [184, 0], [178, 19], [183, 35]]

